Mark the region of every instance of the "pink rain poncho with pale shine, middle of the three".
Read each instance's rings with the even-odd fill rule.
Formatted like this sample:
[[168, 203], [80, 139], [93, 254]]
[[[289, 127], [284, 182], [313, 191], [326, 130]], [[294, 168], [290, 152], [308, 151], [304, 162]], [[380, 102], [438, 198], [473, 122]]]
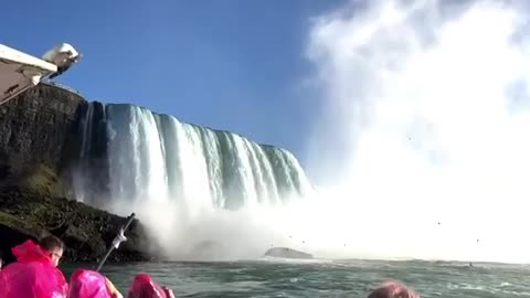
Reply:
[[121, 298], [113, 283], [97, 272], [77, 269], [70, 278], [68, 298]]

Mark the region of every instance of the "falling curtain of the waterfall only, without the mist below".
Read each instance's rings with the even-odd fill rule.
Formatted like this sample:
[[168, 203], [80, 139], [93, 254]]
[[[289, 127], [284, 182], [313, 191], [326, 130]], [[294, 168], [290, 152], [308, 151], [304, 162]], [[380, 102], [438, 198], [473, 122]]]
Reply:
[[92, 182], [74, 187], [84, 198], [91, 198], [93, 181], [105, 180], [99, 188], [110, 200], [179, 201], [198, 212], [278, 205], [310, 190], [284, 149], [132, 105], [89, 103], [82, 114], [81, 175]]

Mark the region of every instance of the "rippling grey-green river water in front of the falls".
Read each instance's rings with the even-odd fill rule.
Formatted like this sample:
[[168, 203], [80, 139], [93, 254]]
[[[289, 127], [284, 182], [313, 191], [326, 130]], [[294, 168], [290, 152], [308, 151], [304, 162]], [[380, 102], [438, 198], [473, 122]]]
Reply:
[[[73, 267], [66, 266], [70, 276]], [[386, 278], [404, 281], [422, 297], [530, 297], [530, 266], [383, 260], [138, 263], [106, 266], [126, 295], [145, 272], [178, 297], [365, 297]]]

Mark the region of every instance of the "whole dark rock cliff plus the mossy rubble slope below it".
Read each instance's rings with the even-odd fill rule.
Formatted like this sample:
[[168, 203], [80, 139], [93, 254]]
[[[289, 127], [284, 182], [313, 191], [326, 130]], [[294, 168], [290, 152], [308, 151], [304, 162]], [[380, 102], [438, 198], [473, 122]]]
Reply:
[[[84, 160], [93, 164], [104, 162], [100, 157], [106, 155], [100, 129], [88, 131], [94, 143], [91, 152], [83, 151], [80, 137], [87, 131], [80, 115], [88, 106], [93, 105], [77, 93], [50, 84], [40, 84], [0, 106], [0, 253], [8, 262], [12, 246], [50, 233], [65, 242], [66, 260], [95, 263], [125, 224], [125, 217], [65, 199], [75, 182], [71, 178], [85, 166], [80, 163], [81, 155], [88, 153], [92, 159]], [[94, 113], [103, 113], [103, 105]], [[104, 171], [84, 174], [94, 181], [108, 180]], [[126, 236], [128, 241], [110, 254], [109, 263], [150, 258], [147, 234], [138, 221]]]

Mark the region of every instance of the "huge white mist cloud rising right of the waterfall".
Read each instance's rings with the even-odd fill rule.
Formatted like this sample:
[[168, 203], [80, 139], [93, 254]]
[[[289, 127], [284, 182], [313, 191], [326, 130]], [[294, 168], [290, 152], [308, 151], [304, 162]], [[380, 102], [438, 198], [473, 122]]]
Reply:
[[[308, 56], [325, 114], [309, 159], [333, 177], [318, 207], [330, 234], [317, 240], [322, 249], [530, 260], [530, 40], [521, 6], [351, 1], [317, 19]], [[341, 164], [339, 174], [327, 164]]]

